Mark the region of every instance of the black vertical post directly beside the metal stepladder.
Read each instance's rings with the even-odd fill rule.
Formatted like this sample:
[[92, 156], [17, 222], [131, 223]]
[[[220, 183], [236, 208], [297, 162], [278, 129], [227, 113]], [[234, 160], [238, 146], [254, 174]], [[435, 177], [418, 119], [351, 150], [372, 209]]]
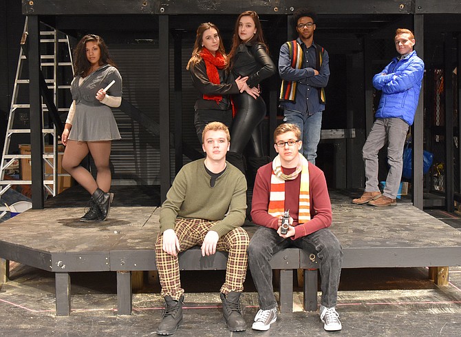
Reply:
[[39, 17], [28, 17], [29, 32], [29, 103], [30, 145], [32, 164], [32, 208], [42, 210], [43, 196], [43, 136], [42, 108], [40, 96], [40, 30]]

